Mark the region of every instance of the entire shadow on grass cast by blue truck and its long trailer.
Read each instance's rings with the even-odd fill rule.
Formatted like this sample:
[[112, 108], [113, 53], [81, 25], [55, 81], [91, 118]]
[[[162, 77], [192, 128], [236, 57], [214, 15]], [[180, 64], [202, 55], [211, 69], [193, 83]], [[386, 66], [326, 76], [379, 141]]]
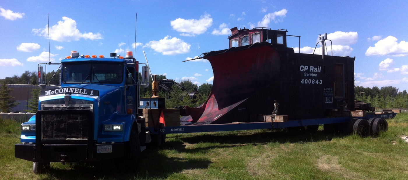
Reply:
[[[259, 130], [234, 132], [216, 132], [211, 134], [173, 134], [166, 141], [164, 150], [147, 148], [142, 152], [142, 160], [136, 172], [124, 172], [113, 162], [101, 162], [98, 165], [74, 163], [61, 166], [51, 163], [49, 173], [40, 179], [165, 179], [185, 170], [206, 169], [212, 163], [210, 158], [197, 158], [177, 154], [210, 153], [216, 148], [239, 147], [246, 145], [264, 145], [267, 143], [308, 143], [331, 141], [344, 134], [326, 134], [317, 132], [284, 132], [279, 130]], [[215, 143], [205, 147], [195, 147], [197, 143]], [[190, 147], [188, 147], [190, 146]], [[172, 151], [175, 151], [176, 154]]]

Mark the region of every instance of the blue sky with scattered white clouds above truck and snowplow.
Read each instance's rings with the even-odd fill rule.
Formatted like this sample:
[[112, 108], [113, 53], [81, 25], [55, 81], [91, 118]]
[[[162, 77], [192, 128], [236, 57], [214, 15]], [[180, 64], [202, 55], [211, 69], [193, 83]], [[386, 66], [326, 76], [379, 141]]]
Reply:
[[[408, 2], [401, 1], [2, 1], [0, 78], [36, 71], [51, 59], [80, 54], [125, 55], [137, 35], [135, 58], [153, 74], [212, 83], [210, 63], [182, 61], [228, 48], [230, 28], [270, 27], [301, 36], [312, 53], [317, 35], [328, 33], [333, 53], [356, 56], [356, 84], [408, 89]], [[298, 51], [298, 40], [288, 38]]]

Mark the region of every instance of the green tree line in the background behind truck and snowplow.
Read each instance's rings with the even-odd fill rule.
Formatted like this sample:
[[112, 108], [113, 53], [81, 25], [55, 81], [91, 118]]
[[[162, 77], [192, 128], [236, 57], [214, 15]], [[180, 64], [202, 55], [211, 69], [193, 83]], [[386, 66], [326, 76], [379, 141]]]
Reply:
[[[55, 75], [54, 75], [55, 74]], [[54, 76], [54, 77], [53, 77]], [[48, 72], [46, 74], [47, 84], [59, 84], [60, 70]], [[51, 79], [51, 77], [53, 77]], [[141, 74], [139, 73], [139, 79]], [[37, 84], [37, 72], [26, 71], [20, 76], [14, 75], [1, 79], [2, 87], [0, 88], [0, 111], [10, 112], [11, 108], [17, 105], [13, 97], [9, 95], [11, 89], [6, 84]], [[157, 80], [166, 79], [165, 75], [157, 75]], [[48, 83], [49, 82], [49, 83]], [[152, 96], [151, 92], [152, 80], [150, 79], [149, 87], [140, 88], [140, 97], [148, 98]], [[211, 93], [212, 85], [204, 83], [200, 86], [191, 82], [191, 80], [182, 80], [178, 84], [171, 86], [171, 93], [167, 91], [160, 91], [159, 96], [166, 98], [166, 108], [177, 108], [179, 106], [197, 107], [204, 103], [208, 95]], [[40, 89], [34, 89], [32, 92], [32, 99], [29, 101], [29, 112], [35, 113], [38, 110], [38, 97]], [[193, 95], [192, 95], [193, 94]], [[361, 87], [355, 86], [355, 99], [364, 103], [371, 103], [375, 108], [408, 108], [407, 91], [399, 91], [398, 88], [387, 87]]]

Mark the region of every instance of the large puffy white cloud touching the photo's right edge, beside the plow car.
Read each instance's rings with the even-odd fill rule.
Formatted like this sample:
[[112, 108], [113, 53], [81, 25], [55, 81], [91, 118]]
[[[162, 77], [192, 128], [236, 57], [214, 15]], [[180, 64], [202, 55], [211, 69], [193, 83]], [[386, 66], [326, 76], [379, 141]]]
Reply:
[[408, 42], [397, 42], [397, 38], [388, 36], [385, 39], [379, 40], [374, 47], [369, 47], [366, 51], [366, 56], [406, 56], [408, 55]]

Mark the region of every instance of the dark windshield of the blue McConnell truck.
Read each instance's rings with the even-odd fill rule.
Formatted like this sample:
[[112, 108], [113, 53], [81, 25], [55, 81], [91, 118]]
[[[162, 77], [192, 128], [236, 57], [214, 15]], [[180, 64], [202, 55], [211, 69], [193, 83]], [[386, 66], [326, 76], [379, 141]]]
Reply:
[[64, 63], [64, 83], [122, 83], [123, 64], [106, 62]]

